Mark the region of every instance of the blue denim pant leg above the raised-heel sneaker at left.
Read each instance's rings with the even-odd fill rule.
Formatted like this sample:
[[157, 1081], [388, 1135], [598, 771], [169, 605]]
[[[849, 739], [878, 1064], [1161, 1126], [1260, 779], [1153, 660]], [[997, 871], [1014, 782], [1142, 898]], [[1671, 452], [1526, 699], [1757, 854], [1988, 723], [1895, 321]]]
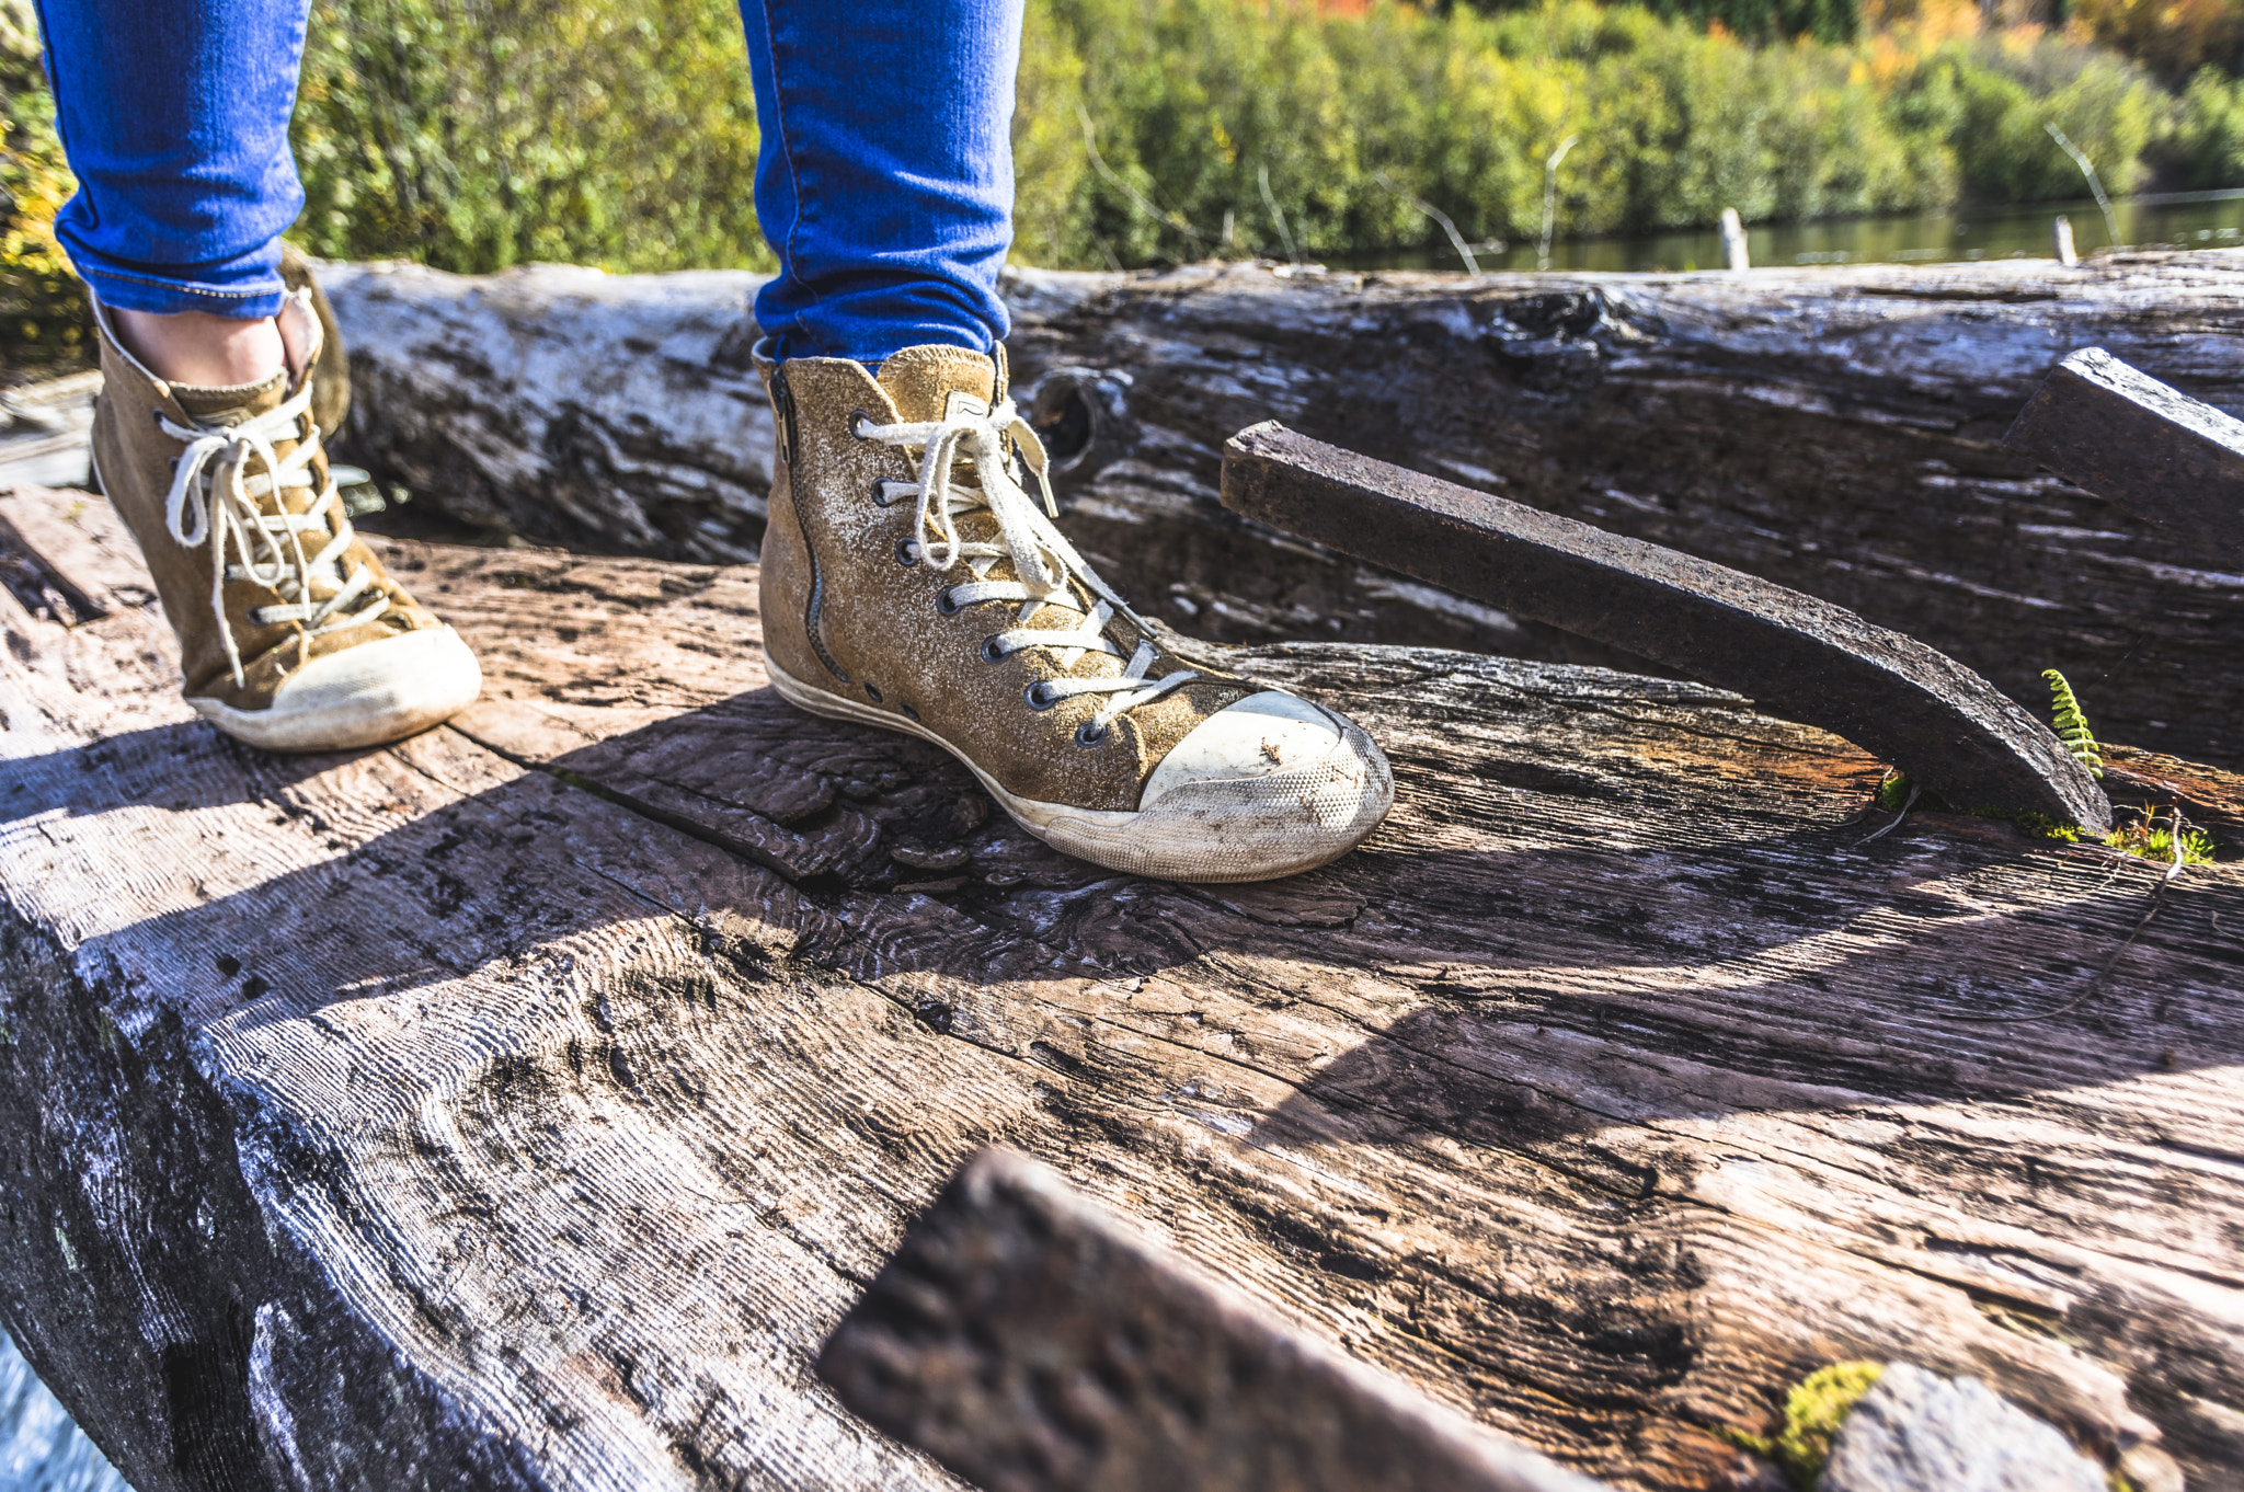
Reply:
[[103, 305], [272, 316], [310, 0], [38, 0], [79, 193], [54, 236]]

